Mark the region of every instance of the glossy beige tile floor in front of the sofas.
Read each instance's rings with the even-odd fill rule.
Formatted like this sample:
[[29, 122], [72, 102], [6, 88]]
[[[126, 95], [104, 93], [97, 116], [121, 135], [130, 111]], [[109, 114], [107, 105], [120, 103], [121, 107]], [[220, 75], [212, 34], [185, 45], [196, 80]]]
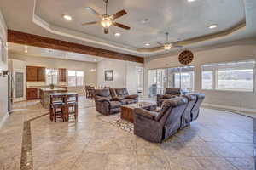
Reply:
[[[31, 122], [35, 170], [253, 170], [253, 122], [247, 116], [201, 109], [190, 127], [152, 144], [108, 122], [79, 98], [78, 122]], [[0, 130], [0, 169], [20, 169], [23, 122], [47, 112], [38, 101], [15, 105]]]

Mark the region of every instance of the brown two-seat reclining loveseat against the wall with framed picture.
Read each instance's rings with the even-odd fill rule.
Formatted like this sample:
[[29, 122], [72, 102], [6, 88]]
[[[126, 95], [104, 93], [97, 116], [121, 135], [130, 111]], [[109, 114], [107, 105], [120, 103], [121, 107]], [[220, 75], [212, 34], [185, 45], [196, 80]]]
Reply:
[[138, 95], [129, 95], [126, 88], [95, 90], [96, 111], [112, 115], [121, 111], [121, 105], [137, 103]]

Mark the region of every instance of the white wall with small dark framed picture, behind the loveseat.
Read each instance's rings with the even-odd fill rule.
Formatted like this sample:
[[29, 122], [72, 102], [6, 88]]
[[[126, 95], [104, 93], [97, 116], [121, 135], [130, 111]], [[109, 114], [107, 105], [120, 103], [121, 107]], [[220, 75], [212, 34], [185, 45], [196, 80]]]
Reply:
[[[118, 59], [103, 60], [96, 65], [96, 84], [127, 88], [130, 94], [137, 94], [137, 67], [143, 67], [143, 64]], [[113, 70], [113, 81], [105, 81], [105, 71], [108, 70]]]

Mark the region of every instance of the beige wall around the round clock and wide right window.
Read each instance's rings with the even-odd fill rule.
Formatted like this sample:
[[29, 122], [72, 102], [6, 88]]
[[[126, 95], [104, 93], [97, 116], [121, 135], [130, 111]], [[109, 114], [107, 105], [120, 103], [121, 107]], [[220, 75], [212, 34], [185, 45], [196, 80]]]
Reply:
[[[215, 48], [194, 52], [195, 59], [191, 65], [195, 65], [195, 91], [206, 94], [204, 105], [224, 107], [239, 111], [256, 112], [256, 92], [228, 92], [201, 90], [201, 65], [241, 59], [256, 59], [256, 42], [241, 42], [241, 45], [233, 45], [224, 48]], [[179, 66], [178, 55], [158, 56], [145, 59], [145, 93], [148, 93], [148, 69]], [[256, 85], [254, 85], [256, 89]]]

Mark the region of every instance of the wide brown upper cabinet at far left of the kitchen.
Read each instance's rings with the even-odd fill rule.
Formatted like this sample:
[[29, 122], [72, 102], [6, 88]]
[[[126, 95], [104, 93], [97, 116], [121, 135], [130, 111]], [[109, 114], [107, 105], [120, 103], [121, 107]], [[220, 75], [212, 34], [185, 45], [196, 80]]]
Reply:
[[37, 66], [26, 66], [27, 82], [45, 82], [45, 68]]

